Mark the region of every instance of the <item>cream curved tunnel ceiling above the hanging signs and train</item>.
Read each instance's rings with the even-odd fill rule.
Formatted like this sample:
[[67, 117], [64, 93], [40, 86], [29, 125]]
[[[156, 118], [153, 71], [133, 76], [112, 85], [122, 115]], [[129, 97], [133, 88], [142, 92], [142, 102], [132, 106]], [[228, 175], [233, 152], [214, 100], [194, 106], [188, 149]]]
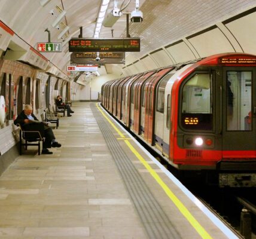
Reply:
[[[78, 37], [80, 27], [83, 27], [83, 37], [92, 38], [96, 20], [103, 0], [0, 0], [0, 19], [7, 24], [20, 38], [33, 48], [37, 42], [48, 42], [50, 30], [51, 42], [63, 42], [62, 53], [42, 53], [63, 72], [70, 63], [68, 40]], [[129, 0], [119, 0], [118, 7]], [[141, 38], [139, 53], [126, 53], [126, 65], [145, 56], [145, 54], [160, 47], [191, 35], [200, 29], [211, 26], [255, 7], [255, 0], [140, 0], [140, 10], [144, 14], [142, 23], [130, 23], [129, 32], [133, 37]], [[114, 8], [114, 1], [110, 0], [107, 13]], [[131, 0], [124, 10], [135, 10], [135, 0]], [[59, 29], [51, 26], [62, 11], [65, 17], [59, 23]], [[53, 13], [53, 14], [52, 14]], [[58, 35], [65, 27], [68, 31], [62, 39]], [[113, 27], [103, 27], [99, 38], [126, 36], [126, 16], [123, 15]], [[115, 65], [121, 71], [123, 65]], [[112, 69], [113, 66], [106, 69]]]

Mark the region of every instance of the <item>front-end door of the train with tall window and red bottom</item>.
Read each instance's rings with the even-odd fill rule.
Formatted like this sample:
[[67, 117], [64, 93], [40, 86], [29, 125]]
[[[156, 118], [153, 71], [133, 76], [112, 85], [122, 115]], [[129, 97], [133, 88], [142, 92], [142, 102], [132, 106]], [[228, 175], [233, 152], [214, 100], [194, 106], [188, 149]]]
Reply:
[[256, 84], [253, 83], [256, 70], [249, 67], [223, 69], [223, 158], [255, 158]]

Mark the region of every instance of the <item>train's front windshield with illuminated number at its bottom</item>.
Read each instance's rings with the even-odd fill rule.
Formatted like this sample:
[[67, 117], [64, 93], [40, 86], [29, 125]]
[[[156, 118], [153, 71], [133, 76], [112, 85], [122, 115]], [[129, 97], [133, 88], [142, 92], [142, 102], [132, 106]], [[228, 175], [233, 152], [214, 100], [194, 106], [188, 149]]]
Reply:
[[181, 125], [187, 130], [213, 130], [212, 79], [196, 73], [182, 87]]

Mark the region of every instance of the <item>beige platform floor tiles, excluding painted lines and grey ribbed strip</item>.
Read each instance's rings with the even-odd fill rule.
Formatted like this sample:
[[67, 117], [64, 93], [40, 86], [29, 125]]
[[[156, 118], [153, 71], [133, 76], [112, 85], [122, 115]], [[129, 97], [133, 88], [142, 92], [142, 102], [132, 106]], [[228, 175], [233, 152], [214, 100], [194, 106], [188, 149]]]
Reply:
[[[60, 118], [54, 134], [62, 147], [51, 149], [53, 155], [38, 156], [37, 149], [30, 147], [2, 174], [0, 238], [149, 238], [145, 227], [152, 222], [142, 223], [90, 104], [74, 103], [72, 117]], [[112, 134], [118, 139], [114, 130]], [[202, 238], [125, 143], [120, 140], [118, 144], [129, 155], [179, 238]], [[143, 154], [141, 149], [138, 152]], [[212, 238], [227, 238], [147, 155], [143, 157]], [[156, 239], [160, 238], [157, 235]]]

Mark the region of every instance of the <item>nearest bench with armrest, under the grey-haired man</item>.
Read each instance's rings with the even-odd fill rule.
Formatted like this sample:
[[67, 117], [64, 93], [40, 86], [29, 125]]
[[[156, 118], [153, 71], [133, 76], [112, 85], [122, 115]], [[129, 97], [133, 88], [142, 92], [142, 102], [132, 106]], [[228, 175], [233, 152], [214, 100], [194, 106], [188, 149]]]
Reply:
[[[39, 131], [23, 130], [20, 124], [17, 124], [17, 126], [20, 128], [20, 155], [22, 155], [22, 146], [25, 146], [26, 150], [28, 149], [28, 146], [38, 146], [38, 155], [40, 155], [40, 142], [44, 140], [41, 133]], [[25, 143], [23, 143], [22, 140], [25, 140]]]

